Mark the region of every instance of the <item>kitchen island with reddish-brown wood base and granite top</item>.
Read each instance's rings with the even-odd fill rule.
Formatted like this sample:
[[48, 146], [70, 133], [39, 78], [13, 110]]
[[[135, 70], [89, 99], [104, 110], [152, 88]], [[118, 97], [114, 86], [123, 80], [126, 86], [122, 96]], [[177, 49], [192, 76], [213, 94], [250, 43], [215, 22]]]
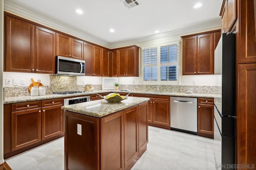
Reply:
[[131, 169], [147, 149], [148, 100], [96, 100], [62, 106], [65, 169]]

